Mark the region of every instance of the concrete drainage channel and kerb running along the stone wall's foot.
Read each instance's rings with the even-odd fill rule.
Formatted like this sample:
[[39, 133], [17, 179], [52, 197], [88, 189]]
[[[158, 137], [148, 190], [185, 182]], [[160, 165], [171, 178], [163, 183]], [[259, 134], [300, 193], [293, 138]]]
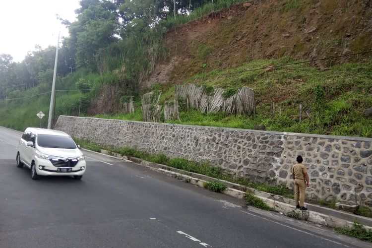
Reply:
[[[85, 150], [85, 149], [82, 149]], [[90, 151], [90, 150], [87, 150]], [[92, 151], [90, 151], [92, 152]], [[163, 173], [169, 177], [173, 177], [184, 182], [188, 182], [190, 184], [204, 187], [207, 182], [216, 181], [218, 179], [211, 178], [208, 176], [204, 176], [197, 173], [187, 172], [180, 169], [176, 169], [173, 167], [169, 167], [166, 165], [156, 164], [148, 161], [144, 161], [139, 158], [135, 157], [126, 157], [118, 153], [114, 153], [111, 151], [101, 150], [101, 154], [113, 156], [119, 159], [132, 161], [136, 164], [141, 166], [147, 167], [153, 171], [157, 171]], [[327, 227], [335, 228], [335, 227], [346, 227], [346, 226], [353, 226], [353, 221], [357, 220], [360, 224], [364, 225], [366, 229], [372, 229], [372, 219], [351, 214], [344, 211], [334, 210], [331, 208], [326, 208], [314, 204], [306, 204], [306, 207], [309, 209], [307, 211], [302, 211], [296, 209], [295, 207], [295, 200], [285, 198], [279, 195], [273, 195], [267, 192], [259, 191], [254, 188], [250, 188], [247, 186], [242, 186], [234, 183], [230, 183], [223, 180], [218, 180], [228, 187], [222, 191], [222, 193], [236, 197], [238, 199], [243, 199], [246, 194], [246, 191], [256, 195], [260, 199], [262, 199], [268, 206], [272, 207], [275, 211], [284, 213], [288, 215], [288, 213], [297, 213], [298, 216], [302, 216], [303, 220], [310, 221], [312, 223], [324, 225]]]

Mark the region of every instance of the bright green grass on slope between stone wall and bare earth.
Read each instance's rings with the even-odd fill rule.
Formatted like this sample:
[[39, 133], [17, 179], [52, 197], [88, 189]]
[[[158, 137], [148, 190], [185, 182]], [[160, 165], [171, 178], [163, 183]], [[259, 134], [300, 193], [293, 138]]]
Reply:
[[[372, 118], [363, 116], [372, 106], [372, 62], [335, 65], [319, 71], [308, 64], [278, 67], [274, 71], [247, 71], [269, 64], [294, 62], [290, 58], [257, 60], [234, 69], [212, 70], [197, 74], [185, 82], [202, 80], [203, 88], [212, 93], [211, 86], [226, 88], [229, 97], [236, 89], [248, 86], [255, 91], [256, 115], [229, 116], [220, 113], [201, 113], [180, 106], [180, 120], [169, 123], [254, 129], [263, 125], [266, 130], [313, 134], [372, 137]], [[231, 74], [226, 75], [229, 72]], [[235, 74], [236, 72], [240, 72]], [[174, 99], [174, 86], [161, 88], [160, 104]], [[142, 121], [139, 98], [135, 113], [98, 115], [98, 118]], [[273, 102], [275, 109], [273, 110]], [[303, 121], [299, 122], [299, 104], [303, 104]], [[310, 118], [306, 111], [310, 110]]]

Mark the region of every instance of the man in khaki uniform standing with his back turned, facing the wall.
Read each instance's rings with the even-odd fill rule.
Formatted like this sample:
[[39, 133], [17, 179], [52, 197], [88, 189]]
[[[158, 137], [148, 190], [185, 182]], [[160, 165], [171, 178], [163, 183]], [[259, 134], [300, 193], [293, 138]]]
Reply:
[[296, 160], [297, 164], [292, 166], [292, 176], [293, 180], [295, 181], [296, 208], [300, 208], [301, 210], [308, 210], [304, 206], [306, 190], [305, 181], [307, 182], [308, 187], [310, 186], [308, 170], [306, 169], [305, 165], [302, 164], [303, 158], [301, 156], [297, 156]]

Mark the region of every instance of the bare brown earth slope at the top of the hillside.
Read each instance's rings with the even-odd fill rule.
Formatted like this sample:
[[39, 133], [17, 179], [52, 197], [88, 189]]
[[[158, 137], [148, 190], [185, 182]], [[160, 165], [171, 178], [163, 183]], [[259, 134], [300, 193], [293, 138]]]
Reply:
[[[164, 37], [166, 60], [141, 82], [180, 83], [194, 74], [289, 56], [319, 59], [372, 48], [371, 0], [248, 1], [175, 28]], [[360, 62], [371, 54], [314, 63]]]

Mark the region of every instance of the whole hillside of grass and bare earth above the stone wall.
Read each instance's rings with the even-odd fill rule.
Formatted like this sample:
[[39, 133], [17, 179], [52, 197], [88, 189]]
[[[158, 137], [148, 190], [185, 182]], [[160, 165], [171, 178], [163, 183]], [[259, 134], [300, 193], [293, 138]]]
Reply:
[[[142, 121], [139, 96], [151, 88], [162, 90], [164, 103], [174, 99], [175, 84], [232, 92], [248, 86], [256, 95], [254, 116], [184, 109], [173, 123], [372, 137], [372, 118], [364, 117], [372, 107], [372, 53], [348, 56], [372, 49], [371, 2], [241, 2], [204, 2], [188, 16], [166, 16], [153, 28], [131, 30], [100, 49], [89, 66], [80, 60], [75, 72], [60, 73], [57, 80], [56, 119]], [[327, 57], [338, 58], [306, 62]], [[92, 66], [93, 61], [98, 62]], [[48, 91], [50, 86], [40, 83], [10, 92], [7, 99]], [[120, 114], [125, 95], [135, 96], [135, 113]], [[0, 125], [39, 126], [36, 114], [48, 114], [49, 100], [49, 93], [0, 100]], [[44, 118], [41, 125], [46, 123]]]

